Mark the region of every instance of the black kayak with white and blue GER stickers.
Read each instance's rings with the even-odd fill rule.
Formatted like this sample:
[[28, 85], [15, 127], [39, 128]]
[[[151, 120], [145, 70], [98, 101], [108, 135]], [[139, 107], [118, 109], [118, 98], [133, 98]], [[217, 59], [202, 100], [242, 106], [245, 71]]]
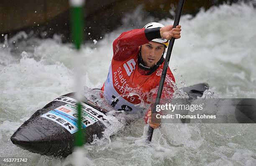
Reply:
[[[208, 89], [208, 84], [201, 83], [182, 88], [194, 100], [202, 97]], [[66, 157], [74, 149], [77, 125], [77, 100], [74, 92], [56, 98], [37, 110], [23, 125], [11, 136], [16, 146], [48, 156]], [[91, 143], [95, 135], [102, 138], [104, 131], [110, 123], [107, 110], [97, 106], [90, 100], [82, 103], [82, 128], [84, 143]]]

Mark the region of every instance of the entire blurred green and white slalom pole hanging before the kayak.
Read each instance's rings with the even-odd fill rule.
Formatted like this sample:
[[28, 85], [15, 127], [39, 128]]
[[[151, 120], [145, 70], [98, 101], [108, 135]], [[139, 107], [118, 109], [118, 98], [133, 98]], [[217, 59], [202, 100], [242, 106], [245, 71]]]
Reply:
[[[71, 5], [71, 26], [72, 26], [72, 41], [77, 51], [77, 55], [80, 54], [80, 47], [83, 42], [83, 30], [84, 30], [84, 21], [83, 21], [83, 5], [84, 0], [70, 0]], [[77, 57], [76, 59], [79, 59]], [[79, 60], [78, 60], [79, 61]], [[82, 147], [84, 144], [84, 134], [82, 130], [82, 118], [81, 118], [81, 102], [82, 102], [82, 84], [81, 84], [81, 75], [79, 74], [80, 65], [76, 64], [75, 76], [76, 76], [76, 84], [77, 84], [77, 112], [78, 112], [78, 131], [75, 135], [74, 144], [77, 147]], [[86, 139], [86, 138], [85, 138]]]

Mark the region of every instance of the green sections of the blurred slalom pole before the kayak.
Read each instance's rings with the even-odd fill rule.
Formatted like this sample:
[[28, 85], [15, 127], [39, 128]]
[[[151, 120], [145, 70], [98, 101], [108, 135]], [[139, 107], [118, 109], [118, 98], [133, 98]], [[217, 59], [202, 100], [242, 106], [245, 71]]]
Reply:
[[[83, 36], [84, 36], [84, 22], [83, 22], [83, 5], [84, 0], [70, 0], [70, 5], [72, 9], [72, 40], [75, 48], [79, 51]], [[81, 110], [81, 101], [78, 100], [77, 103], [77, 112], [78, 112], [78, 131], [75, 135], [75, 146], [81, 147], [84, 144], [84, 133], [82, 130], [82, 110]]]

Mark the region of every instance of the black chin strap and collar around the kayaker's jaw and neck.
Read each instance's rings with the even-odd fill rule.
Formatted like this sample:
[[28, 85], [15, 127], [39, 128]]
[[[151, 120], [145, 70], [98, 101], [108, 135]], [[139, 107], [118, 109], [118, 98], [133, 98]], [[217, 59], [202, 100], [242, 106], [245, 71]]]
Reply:
[[[165, 50], [164, 50], [165, 51]], [[141, 49], [138, 55], [138, 66], [139, 68], [143, 69], [143, 70], [150, 70], [151, 72], [149, 72], [147, 75], [152, 74], [154, 71], [156, 71], [156, 69], [159, 68], [159, 66], [164, 62], [164, 52], [161, 56], [161, 59], [153, 66], [153, 67], [148, 67], [146, 66], [146, 64], [144, 63], [142, 57], [141, 57]]]

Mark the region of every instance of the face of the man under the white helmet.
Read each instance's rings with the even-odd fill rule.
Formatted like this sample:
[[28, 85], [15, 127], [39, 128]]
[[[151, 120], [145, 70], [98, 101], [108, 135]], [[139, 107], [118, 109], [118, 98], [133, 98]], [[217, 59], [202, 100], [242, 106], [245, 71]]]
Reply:
[[141, 46], [141, 57], [148, 67], [153, 67], [164, 53], [164, 44], [149, 41]]

